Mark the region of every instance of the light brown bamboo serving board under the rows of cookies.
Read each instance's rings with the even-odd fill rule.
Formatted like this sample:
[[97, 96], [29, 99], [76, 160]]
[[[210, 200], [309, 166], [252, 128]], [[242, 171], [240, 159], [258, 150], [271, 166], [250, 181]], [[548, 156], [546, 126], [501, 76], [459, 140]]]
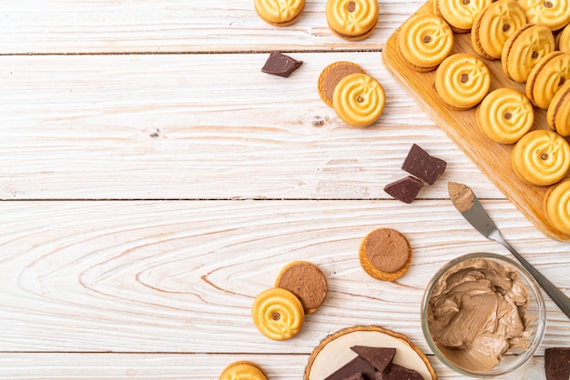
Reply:
[[[416, 14], [432, 14], [433, 2], [422, 5]], [[501, 190], [504, 195], [546, 236], [559, 241], [570, 241], [570, 235], [557, 231], [548, 223], [543, 212], [543, 200], [548, 186], [536, 186], [519, 179], [512, 169], [511, 151], [514, 145], [495, 143], [481, 133], [475, 122], [476, 107], [459, 111], [443, 104], [433, 87], [435, 70], [420, 73], [406, 65], [398, 49], [398, 28], [386, 42], [382, 60], [388, 71], [406, 91], [412, 95], [422, 109], [449, 135], [465, 155], [469, 156], [483, 174]], [[469, 34], [455, 34], [452, 54], [470, 53], [476, 55]], [[512, 87], [523, 94], [524, 84], [507, 79], [501, 61], [483, 59], [491, 72], [491, 90]], [[548, 129], [546, 111], [534, 107], [533, 129]], [[566, 177], [570, 176], [566, 175]], [[469, 185], [469, 184], [468, 184]], [[473, 185], [473, 186], [472, 186]], [[476, 184], [471, 184], [476, 193]]]

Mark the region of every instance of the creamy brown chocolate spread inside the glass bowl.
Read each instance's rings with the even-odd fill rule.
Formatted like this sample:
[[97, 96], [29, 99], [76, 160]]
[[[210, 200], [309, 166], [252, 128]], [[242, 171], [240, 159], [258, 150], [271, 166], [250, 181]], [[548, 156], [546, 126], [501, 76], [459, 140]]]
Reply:
[[484, 258], [455, 265], [434, 284], [428, 302], [433, 341], [455, 365], [487, 371], [507, 350], [526, 348], [528, 293], [504, 265]]

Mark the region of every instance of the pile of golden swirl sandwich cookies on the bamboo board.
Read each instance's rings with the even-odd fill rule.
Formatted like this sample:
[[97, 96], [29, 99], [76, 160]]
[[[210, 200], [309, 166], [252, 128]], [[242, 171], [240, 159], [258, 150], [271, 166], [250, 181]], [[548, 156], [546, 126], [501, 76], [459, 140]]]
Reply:
[[[454, 35], [467, 32], [474, 54], [453, 54]], [[433, 13], [413, 15], [402, 25], [398, 47], [412, 69], [435, 70], [433, 85], [445, 105], [476, 106], [482, 134], [514, 145], [514, 174], [528, 184], [551, 186], [546, 219], [570, 234], [570, 3], [433, 0]], [[515, 86], [490, 91], [493, 61], [524, 93]], [[549, 128], [533, 130], [539, 116]]]

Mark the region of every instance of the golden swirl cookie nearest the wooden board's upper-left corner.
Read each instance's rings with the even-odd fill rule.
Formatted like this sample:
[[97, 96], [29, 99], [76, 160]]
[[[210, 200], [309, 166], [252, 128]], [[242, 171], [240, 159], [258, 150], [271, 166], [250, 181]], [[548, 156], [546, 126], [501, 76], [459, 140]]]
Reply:
[[400, 28], [398, 47], [416, 71], [435, 70], [452, 53], [452, 28], [437, 15], [412, 15]]

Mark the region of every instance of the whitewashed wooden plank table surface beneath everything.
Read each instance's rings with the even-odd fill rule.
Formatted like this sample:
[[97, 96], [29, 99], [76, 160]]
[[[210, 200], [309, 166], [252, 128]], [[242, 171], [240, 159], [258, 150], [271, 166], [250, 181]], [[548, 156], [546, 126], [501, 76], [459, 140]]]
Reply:
[[[470, 185], [504, 236], [570, 294], [570, 245], [533, 225], [434, 125], [382, 66], [382, 46], [422, 1], [380, 2], [375, 32], [329, 31], [325, 0], [300, 21], [265, 24], [250, 0], [0, 1], [0, 378], [217, 379], [235, 360], [299, 380], [321, 339], [351, 325], [427, 347], [424, 286], [457, 255], [507, 255], [448, 199]], [[304, 64], [266, 75], [270, 51]], [[341, 123], [317, 93], [334, 61], [384, 85], [378, 123]], [[383, 186], [416, 143], [448, 162], [405, 205]], [[358, 246], [390, 226], [412, 244], [410, 271], [381, 283]], [[284, 342], [260, 335], [256, 295], [304, 259], [328, 278], [325, 305]], [[570, 344], [546, 296], [534, 360]]]

